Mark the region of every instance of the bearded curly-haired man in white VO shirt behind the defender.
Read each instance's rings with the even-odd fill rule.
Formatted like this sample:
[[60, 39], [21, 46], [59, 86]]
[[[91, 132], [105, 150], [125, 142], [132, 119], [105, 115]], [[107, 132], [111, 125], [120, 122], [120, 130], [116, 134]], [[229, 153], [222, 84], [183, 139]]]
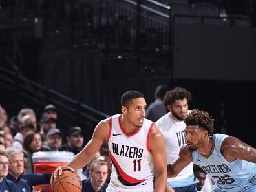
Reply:
[[[182, 145], [185, 144], [186, 127], [183, 118], [188, 112], [188, 103], [191, 93], [182, 87], [175, 87], [167, 91], [164, 96], [165, 107], [170, 111], [156, 121], [156, 127], [162, 131], [167, 153], [167, 164], [173, 163], [178, 158]], [[175, 178], [168, 178], [167, 186], [175, 192], [197, 192], [193, 163], [187, 165]], [[166, 191], [170, 191], [167, 189]]]

